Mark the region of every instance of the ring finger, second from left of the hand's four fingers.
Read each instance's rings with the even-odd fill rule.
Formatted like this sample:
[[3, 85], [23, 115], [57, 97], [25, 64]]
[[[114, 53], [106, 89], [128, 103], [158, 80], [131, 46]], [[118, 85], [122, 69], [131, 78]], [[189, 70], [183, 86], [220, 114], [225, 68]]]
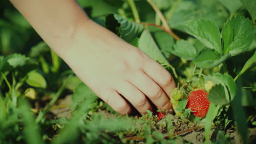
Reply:
[[139, 91], [130, 82], [125, 82], [118, 86], [118, 92], [122, 94], [130, 103], [139, 111], [139, 113], [144, 114], [146, 110], [152, 111], [152, 107], [149, 104], [146, 96]]

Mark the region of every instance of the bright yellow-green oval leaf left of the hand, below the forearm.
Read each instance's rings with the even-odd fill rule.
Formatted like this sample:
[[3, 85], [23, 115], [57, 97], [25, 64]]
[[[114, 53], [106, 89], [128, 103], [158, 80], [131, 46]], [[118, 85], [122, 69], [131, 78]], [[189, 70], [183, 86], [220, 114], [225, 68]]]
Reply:
[[41, 74], [39, 74], [36, 70], [30, 71], [30, 73], [27, 74], [26, 82], [28, 85], [33, 87], [39, 87], [39, 88], [47, 87], [47, 83], [44, 77]]

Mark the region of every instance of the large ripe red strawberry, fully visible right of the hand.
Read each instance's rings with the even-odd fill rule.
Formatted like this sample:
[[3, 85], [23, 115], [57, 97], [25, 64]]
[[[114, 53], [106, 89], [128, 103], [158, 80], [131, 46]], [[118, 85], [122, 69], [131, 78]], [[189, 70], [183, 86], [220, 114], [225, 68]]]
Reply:
[[191, 109], [196, 117], [205, 117], [210, 106], [208, 93], [199, 89], [189, 93], [187, 108]]

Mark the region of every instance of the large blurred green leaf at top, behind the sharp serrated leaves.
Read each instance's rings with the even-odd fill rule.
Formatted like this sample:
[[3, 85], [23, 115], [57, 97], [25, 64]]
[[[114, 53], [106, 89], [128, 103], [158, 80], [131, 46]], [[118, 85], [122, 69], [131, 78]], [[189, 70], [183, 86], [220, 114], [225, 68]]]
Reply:
[[202, 4], [202, 1], [181, 1], [168, 19], [168, 24], [173, 29], [185, 32], [186, 23], [203, 17], [214, 20], [219, 28], [223, 27], [229, 14], [218, 1], [213, 1], [213, 3], [205, 5]]

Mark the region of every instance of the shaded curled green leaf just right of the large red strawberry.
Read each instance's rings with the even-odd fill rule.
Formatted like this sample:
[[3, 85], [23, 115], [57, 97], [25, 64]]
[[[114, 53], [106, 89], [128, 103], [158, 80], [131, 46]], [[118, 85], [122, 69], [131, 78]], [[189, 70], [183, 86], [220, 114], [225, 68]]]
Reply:
[[225, 88], [222, 85], [214, 86], [208, 96], [208, 100], [215, 105], [226, 105], [229, 102], [226, 100]]

